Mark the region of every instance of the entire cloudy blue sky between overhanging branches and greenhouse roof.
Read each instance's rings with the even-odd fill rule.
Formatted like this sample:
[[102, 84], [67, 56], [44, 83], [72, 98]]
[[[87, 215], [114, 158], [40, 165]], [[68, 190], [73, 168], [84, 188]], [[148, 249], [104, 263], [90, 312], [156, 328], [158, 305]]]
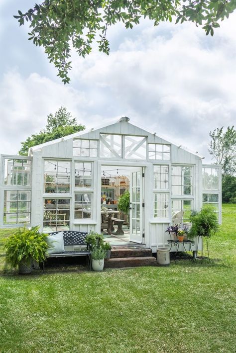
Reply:
[[28, 41], [28, 27], [12, 17], [34, 2], [0, 0], [1, 154], [17, 154], [65, 106], [86, 128], [128, 116], [212, 163], [209, 132], [236, 125], [236, 13], [213, 37], [189, 22], [117, 24], [108, 30], [109, 56], [96, 48], [85, 59], [72, 53], [64, 86], [43, 48]]

